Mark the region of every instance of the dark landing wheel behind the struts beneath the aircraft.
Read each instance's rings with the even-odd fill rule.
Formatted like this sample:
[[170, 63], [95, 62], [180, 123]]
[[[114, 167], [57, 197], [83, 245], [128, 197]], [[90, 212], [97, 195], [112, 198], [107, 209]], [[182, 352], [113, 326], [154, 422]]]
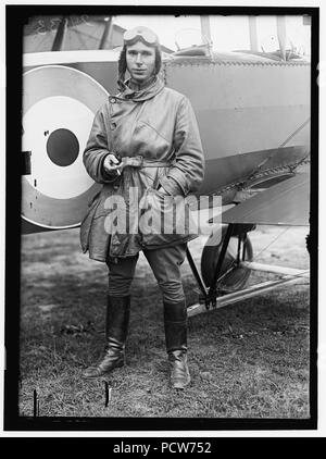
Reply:
[[[217, 264], [218, 256], [221, 253], [222, 244], [224, 239], [226, 228], [223, 228], [222, 233], [222, 240], [216, 246], [204, 246], [202, 250], [201, 256], [201, 273], [202, 278], [205, 285], [209, 287], [211, 285], [215, 268]], [[244, 287], [251, 270], [247, 268], [239, 268], [235, 265], [233, 268], [234, 262], [237, 259], [237, 252], [238, 252], [238, 237], [231, 237], [227, 247], [227, 251], [225, 255], [225, 258], [223, 260], [222, 270], [221, 270], [221, 276], [225, 274], [228, 270], [229, 272], [223, 276], [220, 283], [217, 283], [217, 286], [221, 290], [225, 290], [227, 293], [229, 291], [237, 291]], [[242, 260], [244, 261], [251, 261], [253, 257], [252, 251], [252, 244], [247, 235], [244, 243], [241, 243], [241, 257], [243, 253]]]

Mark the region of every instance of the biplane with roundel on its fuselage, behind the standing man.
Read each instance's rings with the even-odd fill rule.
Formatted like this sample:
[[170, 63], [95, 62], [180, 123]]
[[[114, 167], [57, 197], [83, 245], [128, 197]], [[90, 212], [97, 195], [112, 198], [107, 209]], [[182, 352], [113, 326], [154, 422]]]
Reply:
[[[200, 289], [189, 315], [310, 276], [254, 262], [250, 240], [256, 225], [309, 226], [310, 60], [287, 49], [284, 16], [275, 52], [259, 50], [253, 17], [250, 50], [214, 51], [209, 18], [201, 25], [203, 42], [164, 52], [162, 66], [165, 84], [189, 98], [199, 123], [206, 172], [198, 196], [223, 203], [209, 219], [223, 237], [203, 247], [200, 270], [187, 251]], [[77, 227], [100, 186], [82, 157], [96, 111], [116, 92], [120, 50], [104, 49], [111, 17], [97, 50], [60, 50], [67, 26], [68, 18], [59, 21], [52, 51], [23, 58], [24, 233]], [[246, 287], [255, 270], [277, 278]]]

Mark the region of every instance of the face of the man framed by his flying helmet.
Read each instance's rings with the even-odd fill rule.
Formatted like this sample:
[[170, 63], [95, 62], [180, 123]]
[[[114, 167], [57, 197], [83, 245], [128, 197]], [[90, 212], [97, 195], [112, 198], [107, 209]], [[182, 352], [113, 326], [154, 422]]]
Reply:
[[138, 83], [146, 83], [154, 73], [155, 49], [137, 41], [127, 46], [126, 52], [127, 69], [131, 78]]

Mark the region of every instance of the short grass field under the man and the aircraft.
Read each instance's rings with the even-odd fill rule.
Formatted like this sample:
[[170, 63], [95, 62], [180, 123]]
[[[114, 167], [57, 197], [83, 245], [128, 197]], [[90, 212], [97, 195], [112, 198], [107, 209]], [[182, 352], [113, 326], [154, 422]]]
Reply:
[[[254, 253], [279, 227], [251, 236]], [[308, 268], [306, 228], [289, 230], [255, 261]], [[190, 243], [197, 262], [202, 240]], [[183, 278], [197, 301], [187, 262]], [[250, 282], [266, 275], [252, 274]], [[43, 417], [173, 417], [305, 419], [309, 406], [309, 286], [285, 287], [189, 319], [189, 368], [184, 392], [167, 384], [163, 309], [154, 277], [140, 257], [133, 284], [127, 365], [104, 382], [80, 371], [103, 346], [106, 266], [79, 249], [78, 230], [23, 236], [20, 413], [33, 415], [37, 390]]]

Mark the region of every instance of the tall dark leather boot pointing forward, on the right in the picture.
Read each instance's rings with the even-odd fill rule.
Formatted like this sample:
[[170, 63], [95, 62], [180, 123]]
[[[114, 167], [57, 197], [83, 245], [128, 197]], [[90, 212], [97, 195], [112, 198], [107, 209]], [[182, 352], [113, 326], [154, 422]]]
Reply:
[[166, 351], [170, 362], [170, 381], [173, 388], [183, 389], [190, 383], [187, 364], [187, 308], [185, 301], [164, 302]]

